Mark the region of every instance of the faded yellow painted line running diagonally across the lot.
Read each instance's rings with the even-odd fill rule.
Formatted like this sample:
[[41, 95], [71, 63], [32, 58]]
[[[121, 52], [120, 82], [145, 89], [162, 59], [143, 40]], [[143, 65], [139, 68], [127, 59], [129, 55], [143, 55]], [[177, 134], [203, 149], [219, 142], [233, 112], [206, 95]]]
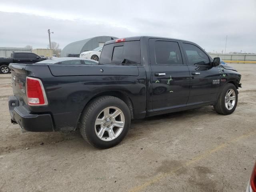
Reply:
[[244, 135], [242, 135], [242, 136], [240, 136], [240, 137], [234, 138], [234, 139], [232, 139], [232, 140], [230, 140], [230, 141], [228, 141], [228, 142], [226, 142], [226, 143], [223, 143], [223, 144], [221, 144], [221, 145], [218, 145], [218, 146], [216, 146], [215, 148], [213, 148], [213, 149], [211, 149], [211, 150], [208, 150], [208, 151], [204, 152], [203, 154], [201, 154], [201, 155], [199, 155], [199, 156], [194, 157], [192, 160], [186, 162], [183, 166], [178, 166], [178, 167], [176, 167], [176, 168], [175, 168], [174, 170], [172, 170], [171, 172], [163, 173], [163, 174], [158, 174], [157, 176], [155, 176], [155, 177], [152, 178], [151, 180], [145, 182], [144, 184], [142, 184], [142, 185], [140, 185], [140, 186], [136, 186], [136, 187], [130, 189], [129, 192], [138, 192], [138, 191], [141, 191], [141, 190], [145, 189], [147, 186], [152, 185], [152, 184], [158, 182], [158, 181], [161, 180], [162, 178], [165, 178], [165, 177], [167, 177], [167, 176], [170, 176], [170, 175], [174, 174], [174, 173], [175, 173], [176, 171], [178, 171], [179, 169], [181, 169], [181, 168], [183, 168], [183, 167], [186, 167], [186, 166], [189, 166], [190, 164], [192, 164], [192, 163], [194, 163], [194, 162], [197, 162], [198, 160], [201, 160], [201, 159], [203, 159], [204, 157], [206, 157], [206, 156], [208, 156], [208, 155], [210, 155], [210, 154], [212, 154], [212, 153], [214, 153], [214, 152], [216, 152], [216, 151], [221, 150], [222, 148], [225, 148], [226, 146], [228, 146], [228, 144], [234, 143], [234, 142], [236, 142], [236, 141], [238, 141], [238, 140], [240, 140], [240, 139], [242, 139], [242, 138], [246, 138], [246, 137], [249, 137], [249, 136], [254, 135], [254, 134], [256, 134], [256, 132], [250, 132], [250, 133], [248, 133], [248, 134], [244, 134]]

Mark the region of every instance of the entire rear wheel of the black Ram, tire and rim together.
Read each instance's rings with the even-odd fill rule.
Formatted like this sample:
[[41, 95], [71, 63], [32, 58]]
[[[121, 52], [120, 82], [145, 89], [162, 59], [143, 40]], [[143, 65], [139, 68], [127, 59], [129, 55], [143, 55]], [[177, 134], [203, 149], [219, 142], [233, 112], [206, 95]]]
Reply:
[[130, 110], [122, 100], [113, 96], [100, 96], [84, 109], [80, 132], [92, 146], [106, 149], [124, 139], [130, 122]]

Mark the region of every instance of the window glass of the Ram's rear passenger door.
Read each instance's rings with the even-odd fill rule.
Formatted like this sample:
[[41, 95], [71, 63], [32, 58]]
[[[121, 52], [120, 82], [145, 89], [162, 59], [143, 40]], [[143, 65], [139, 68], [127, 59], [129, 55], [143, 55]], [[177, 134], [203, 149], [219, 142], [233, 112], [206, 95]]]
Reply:
[[183, 64], [178, 42], [156, 41], [155, 57], [156, 64]]

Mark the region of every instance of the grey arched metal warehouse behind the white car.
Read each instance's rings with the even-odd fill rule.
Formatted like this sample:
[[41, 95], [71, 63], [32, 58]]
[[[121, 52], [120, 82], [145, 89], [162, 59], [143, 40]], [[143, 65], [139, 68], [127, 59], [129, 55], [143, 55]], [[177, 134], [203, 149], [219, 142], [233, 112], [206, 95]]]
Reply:
[[99, 46], [103, 46], [105, 42], [114, 39], [117, 39], [117, 37], [97, 36], [89, 39], [72, 42], [62, 49], [60, 56], [66, 57], [68, 54], [80, 54], [84, 51], [90, 51]]

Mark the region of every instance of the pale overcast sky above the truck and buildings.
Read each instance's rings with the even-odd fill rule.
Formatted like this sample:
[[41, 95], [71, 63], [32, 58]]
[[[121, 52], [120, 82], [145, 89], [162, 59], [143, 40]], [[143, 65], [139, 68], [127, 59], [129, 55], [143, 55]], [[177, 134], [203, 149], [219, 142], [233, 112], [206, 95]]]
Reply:
[[256, 53], [256, 0], [1, 0], [0, 47], [64, 48], [94, 36], [162, 36]]

